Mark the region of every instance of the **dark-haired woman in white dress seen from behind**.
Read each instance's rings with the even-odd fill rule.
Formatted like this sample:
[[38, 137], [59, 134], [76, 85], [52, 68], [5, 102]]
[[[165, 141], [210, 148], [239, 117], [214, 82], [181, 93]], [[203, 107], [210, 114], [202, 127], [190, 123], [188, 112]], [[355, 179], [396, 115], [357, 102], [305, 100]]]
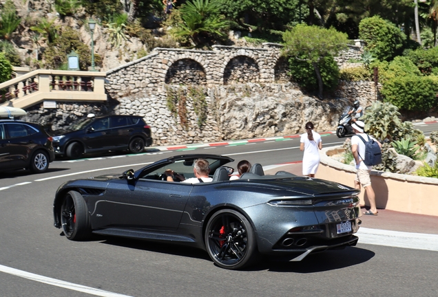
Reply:
[[313, 131], [313, 123], [306, 123], [306, 133], [301, 135], [300, 150], [304, 151], [302, 157], [302, 175], [315, 177], [320, 166], [320, 153], [322, 148], [321, 135]]

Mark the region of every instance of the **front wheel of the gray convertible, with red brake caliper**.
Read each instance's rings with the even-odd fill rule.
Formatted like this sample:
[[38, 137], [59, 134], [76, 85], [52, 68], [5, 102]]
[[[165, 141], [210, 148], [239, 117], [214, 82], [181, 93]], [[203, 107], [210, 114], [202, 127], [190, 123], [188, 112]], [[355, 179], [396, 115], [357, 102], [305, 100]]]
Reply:
[[79, 192], [71, 190], [61, 205], [61, 223], [67, 239], [80, 241], [91, 234], [87, 204]]

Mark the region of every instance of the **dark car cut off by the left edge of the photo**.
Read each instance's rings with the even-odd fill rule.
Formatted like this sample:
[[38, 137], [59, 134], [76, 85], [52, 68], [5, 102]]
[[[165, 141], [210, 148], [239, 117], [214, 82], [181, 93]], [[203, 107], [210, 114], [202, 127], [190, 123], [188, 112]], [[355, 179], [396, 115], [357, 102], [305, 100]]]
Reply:
[[43, 173], [53, 160], [52, 137], [39, 124], [0, 120], [0, 171]]

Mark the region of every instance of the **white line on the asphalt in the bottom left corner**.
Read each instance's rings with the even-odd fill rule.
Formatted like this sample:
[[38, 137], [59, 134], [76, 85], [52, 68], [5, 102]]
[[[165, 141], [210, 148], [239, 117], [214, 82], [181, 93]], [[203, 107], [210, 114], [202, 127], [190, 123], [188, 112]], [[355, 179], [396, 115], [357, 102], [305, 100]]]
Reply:
[[71, 289], [78, 292], [83, 292], [87, 294], [91, 294], [94, 296], [103, 296], [103, 297], [131, 297], [123, 294], [112, 293], [108, 291], [103, 291], [101, 289], [95, 289], [92, 287], [85, 287], [83, 285], [77, 285], [74, 283], [68, 283], [66, 281], [59, 281], [56, 278], [49, 278], [46, 276], [40, 276], [38, 274], [32, 274], [30, 272], [25, 272], [23, 270], [17, 270], [11, 267], [0, 265], [0, 272], [4, 272], [7, 274], [12, 274], [14, 276], [19, 276], [22, 278], [28, 278], [31, 281], [37, 281], [39, 283], [45, 283], [48, 285], [53, 285], [56, 287], [63, 287], [65, 289]]

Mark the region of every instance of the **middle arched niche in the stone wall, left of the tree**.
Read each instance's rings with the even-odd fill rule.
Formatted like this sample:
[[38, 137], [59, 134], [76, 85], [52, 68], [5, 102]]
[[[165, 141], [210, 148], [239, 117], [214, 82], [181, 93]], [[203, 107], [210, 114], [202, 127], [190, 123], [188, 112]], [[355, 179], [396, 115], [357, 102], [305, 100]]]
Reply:
[[231, 58], [224, 70], [224, 85], [233, 83], [258, 83], [260, 69], [253, 58], [235, 56]]

